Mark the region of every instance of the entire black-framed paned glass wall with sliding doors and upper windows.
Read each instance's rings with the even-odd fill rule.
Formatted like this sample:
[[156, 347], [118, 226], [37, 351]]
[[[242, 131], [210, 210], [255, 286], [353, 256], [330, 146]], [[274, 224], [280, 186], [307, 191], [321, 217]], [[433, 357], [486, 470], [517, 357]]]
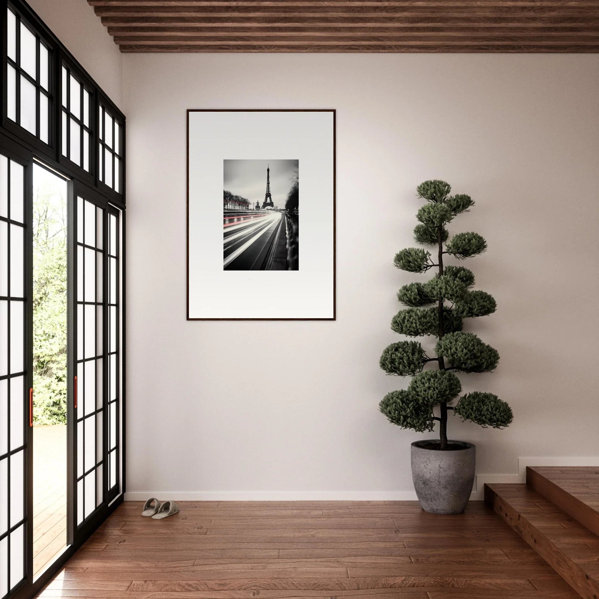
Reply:
[[[25, 1], [0, 0], [0, 31], [0, 599], [29, 599], [125, 492], [126, 128], [123, 113]], [[60, 368], [50, 374], [41, 368], [62, 385], [52, 397], [60, 398], [53, 423], [67, 439], [66, 510], [56, 516], [67, 546], [47, 561], [37, 558], [36, 569], [34, 541], [43, 535], [34, 534], [34, 517], [42, 502], [34, 506], [33, 497], [43, 477], [34, 476], [33, 441], [43, 438], [38, 426], [46, 408], [38, 408], [48, 397], [43, 359], [34, 351], [34, 304], [37, 309], [43, 296], [34, 286], [33, 173], [40, 165], [61, 178], [67, 196], [61, 201], [68, 204], [67, 285], [60, 292], [67, 326], [56, 352]], [[63, 246], [60, 251], [57, 280], [65, 276]], [[64, 528], [59, 532], [62, 541]]]

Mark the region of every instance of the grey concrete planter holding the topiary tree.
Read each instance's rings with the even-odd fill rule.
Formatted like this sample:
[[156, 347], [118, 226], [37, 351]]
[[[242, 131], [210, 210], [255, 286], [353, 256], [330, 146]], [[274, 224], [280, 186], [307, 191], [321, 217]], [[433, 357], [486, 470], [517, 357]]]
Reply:
[[449, 441], [459, 449], [427, 449], [436, 440], [412, 443], [412, 479], [420, 506], [433, 514], [461, 514], [474, 484], [476, 447]]

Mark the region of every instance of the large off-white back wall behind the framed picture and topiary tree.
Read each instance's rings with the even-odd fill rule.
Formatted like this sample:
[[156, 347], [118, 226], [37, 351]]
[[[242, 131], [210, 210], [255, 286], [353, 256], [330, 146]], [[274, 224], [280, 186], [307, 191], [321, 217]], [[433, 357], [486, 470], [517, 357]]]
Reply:
[[[126, 55], [128, 491], [169, 498], [408, 498], [410, 443], [377, 411], [407, 380], [395, 269], [420, 181], [477, 205], [451, 231], [498, 302], [466, 325], [501, 353], [465, 390], [509, 429], [450, 422], [479, 473], [597, 456], [599, 57]], [[186, 322], [186, 108], [337, 109], [337, 321]], [[193, 166], [192, 166], [193, 168]], [[215, 198], [216, 201], [216, 198]], [[278, 492], [278, 493], [277, 493]]]

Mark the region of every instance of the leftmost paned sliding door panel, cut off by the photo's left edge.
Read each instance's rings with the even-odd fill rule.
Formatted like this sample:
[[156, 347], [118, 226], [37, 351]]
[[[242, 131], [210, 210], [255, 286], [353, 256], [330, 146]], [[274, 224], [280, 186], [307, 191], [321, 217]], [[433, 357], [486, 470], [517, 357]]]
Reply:
[[25, 165], [0, 150], [0, 597], [27, 575], [31, 533], [26, 172]]

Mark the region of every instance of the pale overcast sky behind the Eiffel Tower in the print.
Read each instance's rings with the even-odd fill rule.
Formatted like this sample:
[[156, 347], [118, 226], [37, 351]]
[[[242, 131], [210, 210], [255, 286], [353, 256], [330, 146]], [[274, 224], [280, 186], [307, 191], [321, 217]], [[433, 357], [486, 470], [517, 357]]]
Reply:
[[298, 170], [297, 160], [225, 160], [224, 187], [234, 195], [249, 199], [252, 207], [264, 202], [266, 170], [270, 165], [270, 193], [273, 204], [285, 208], [291, 181]]

